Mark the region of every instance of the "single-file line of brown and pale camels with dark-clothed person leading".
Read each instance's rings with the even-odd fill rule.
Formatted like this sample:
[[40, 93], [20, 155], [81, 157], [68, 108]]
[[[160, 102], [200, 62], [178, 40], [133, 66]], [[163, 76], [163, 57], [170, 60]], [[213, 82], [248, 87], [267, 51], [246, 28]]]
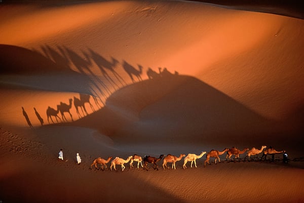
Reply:
[[[204, 167], [206, 167], [206, 164], [210, 165], [210, 158], [214, 158], [214, 163], [217, 164], [220, 163], [220, 158], [219, 156], [226, 153], [226, 160], [230, 161], [230, 160], [235, 160], [238, 159], [240, 161], [240, 154], [245, 154], [244, 157], [244, 161], [246, 161], [246, 159], [248, 161], [251, 161], [252, 159], [255, 161], [256, 158], [259, 159], [259, 154], [262, 154], [261, 159], [262, 160], [264, 158], [264, 160], [267, 160], [267, 155], [270, 154], [272, 155], [272, 159], [271, 161], [274, 161], [275, 159], [275, 154], [280, 154], [283, 153], [283, 162], [284, 163], [288, 163], [288, 159], [287, 159], [287, 153], [285, 150], [281, 150], [281, 151], [277, 151], [275, 149], [273, 149], [272, 146], [270, 146], [269, 148], [267, 148], [267, 146], [261, 146], [260, 149], [257, 149], [255, 147], [252, 147], [250, 150], [249, 148], [245, 147], [243, 150], [240, 150], [236, 147], [232, 147], [232, 148], [224, 148], [222, 151], [219, 150], [214, 150], [212, 149], [211, 151], [209, 151], [208, 153], [206, 151], [202, 151], [201, 154], [191, 154], [189, 153], [188, 155], [185, 154], [180, 154], [179, 156], [174, 156], [172, 154], [161, 154], [158, 158], [154, 157], [154, 156], [149, 156], [149, 155], [145, 155], [143, 158], [137, 154], [134, 154], [133, 156], [128, 156], [126, 159], [120, 158], [120, 157], [116, 157], [114, 159], [112, 159], [112, 156], [109, 156], [107, 159], [103, 159], [101, 157], [98, 157], [96, 159], [94, 159], [93, 163], [91, 164], [90, 169], [92, 169], [92, 166], [95, 165], [95, 169], [97, 170], [107, 170], [107, 163], [110, 162], [110, 160], [112, 159], [111, 163], [110, 163], [110, 170], [117, 171], [116, 169], [116, 165], [121, 165], [122, 171], [125, 170], [125, 164], [129, 163], [130, 161], [130, 169], [134, 169], [133, 163], [134, 161], [137, 162], [137, 169], [141, 168], [148, 171], [148, 164], [152, 164], [153, 165], [153, 169], [154, 170], [159, 170], [158, 169], [158, 165], [157, 163], [159, 163], [162, 159], [163, 159], [163, 169], [167, 170], [170, 169], [170, 167], [167, 166], [168, 163], [172, 163], [172, 169], [176, 170], [176, 163], [177, 161], [180, 161], [183, 158], [183, 165], [182, 168], [183, 170], [186, 170], [186, 164], [191, 161], [191, 168], [194, 166], [195, 168], [197, 168], [197, 163], [196, 160], [199, 158], [202, 158], [204, 156], [204, 154], [206, 154], [206, 159], [204, 161]], [[234, 155], [234, 158], [232, 158], [232, 156]], [[250, 158], [250, 156], [252, 156]], [[143, 163], [142, 163], [143, 162]], [[101, 167], [99, 167], [98, 165], [101, 165]]]

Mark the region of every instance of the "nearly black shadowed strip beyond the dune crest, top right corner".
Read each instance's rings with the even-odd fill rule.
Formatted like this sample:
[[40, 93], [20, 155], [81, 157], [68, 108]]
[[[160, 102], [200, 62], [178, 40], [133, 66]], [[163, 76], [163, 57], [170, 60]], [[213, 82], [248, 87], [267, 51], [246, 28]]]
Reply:
[[291, 0], [255, 0], [255, 1], [244, 1], [244, 0], [194, 0], [195, 2], [216, 4], [224, 6], [225, 8], [254, 11], [261, 13], [271, 13], [282, 16], [288, 16], [293, 18], [304, 19], [304, 7], [300, 1]]

